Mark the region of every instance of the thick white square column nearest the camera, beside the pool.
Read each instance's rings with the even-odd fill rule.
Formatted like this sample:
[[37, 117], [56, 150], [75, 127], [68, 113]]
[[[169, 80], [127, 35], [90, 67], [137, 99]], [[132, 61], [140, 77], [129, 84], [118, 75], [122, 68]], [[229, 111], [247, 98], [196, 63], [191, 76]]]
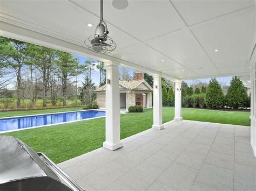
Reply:
[[106, 65], [106, 140], [103, 147], [113, 151], [123, 144], [120, 141], [120, 92], [119, 65], [107, 62]]

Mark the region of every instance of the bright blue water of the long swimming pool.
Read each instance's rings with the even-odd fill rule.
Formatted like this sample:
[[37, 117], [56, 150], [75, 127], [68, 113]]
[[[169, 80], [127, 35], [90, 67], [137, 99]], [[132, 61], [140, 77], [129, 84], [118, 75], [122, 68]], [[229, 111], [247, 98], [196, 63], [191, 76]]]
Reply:
[[37, 116], [24, 116], [24, 117], [15, 117], [0, 119], [0, 131], [9, 131], [16, 129], [25, 129], [35, 126], [79, 121], [82, 119], [88, 119], [93, 117], [105, 116], [104, 111], [75, 111], [75, 112], [66, 112], [62, 114], [45, 114]]

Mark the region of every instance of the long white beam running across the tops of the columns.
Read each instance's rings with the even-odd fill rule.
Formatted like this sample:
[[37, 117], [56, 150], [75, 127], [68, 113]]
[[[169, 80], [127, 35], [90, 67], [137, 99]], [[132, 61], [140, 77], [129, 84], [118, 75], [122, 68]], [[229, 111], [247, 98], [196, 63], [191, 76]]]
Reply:
[[132, 63], [122, 59], [118, 59], [108, 54], [95, 53], [90, 51], [85, 46], [69, 43], [66, 40], [62, 40], [56, 37], [52, 37], [50, 35], [43, 34], [41, 33], [41, 31], [36, 32], [33, 29], [32, 30], [25, 29], [22, 26], [17, 26], [18, 24], [16, 23], [15, 23], [16, 25], [11, 23], [12, 22], [3, 20], [0, 18], [0, 26], [1, 26], [0, 35], [1, 36], [17, 39], [17, 40], [25, 41], [27, 43], [37, 44], [37, 45], [41, 45], [41, 46], [45, 46], [53, 49], [58, 49], [60, 51], [69, 52], [72, 54], [86, 56], [88, 58], [92, 58], [92, 59], [103, 61], [103, 62], [115, 61], [118, 63], [122, 63], [121, 64], [122, 66], [125, 66], [128, 68], [142, 70], [152, 74], [159, 74], [160, 76], [166, 77], [169, 79], [178, 79], [178, 77], [161, 73], [151, 68], [140, 66], [137, 63]]

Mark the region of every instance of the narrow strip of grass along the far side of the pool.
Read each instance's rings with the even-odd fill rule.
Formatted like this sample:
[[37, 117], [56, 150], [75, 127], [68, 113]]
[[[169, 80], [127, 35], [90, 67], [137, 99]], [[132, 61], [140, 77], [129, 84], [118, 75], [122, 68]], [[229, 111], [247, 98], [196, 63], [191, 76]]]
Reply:
[[51, 114], [51, 113], [56, 113], [56, 112], [78, 111], [78, 110], [83, 110], [83, 108], [84, 107], [39, 109], [39, 110], [28, 110], [28, 111], [1, 111], [0, 117], [13, 117], [13, 116], [23, 116], [23, 115], [36, 115], [36, 114]]

